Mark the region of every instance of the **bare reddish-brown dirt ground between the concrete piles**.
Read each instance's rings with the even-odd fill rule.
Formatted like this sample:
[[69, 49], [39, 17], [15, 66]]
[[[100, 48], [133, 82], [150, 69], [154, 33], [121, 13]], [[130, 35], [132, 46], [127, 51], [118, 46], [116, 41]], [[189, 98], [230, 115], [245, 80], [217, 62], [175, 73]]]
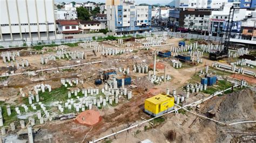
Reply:
[[[167, 43], [173, 43], [173, 46], [178, 45], [178, 41], [183, 39], [172, 38], [169, 39]], [[135, 44], [135, 43], [133, 43]], [[113, 47], [113, 45], [105, 44], [106, 47]], [[136, 45], [139, 46], [139, 45]], [[157, 49], [160, 48], [161, 50], [168, 50], [170, 49], [169, 46], [163, 47], [156, 47], [153, 48]], [[76, 51], [83, 51], [80, 47], [74, 47]], [[104, 63], [99, 63], [95, 65], [87, 65], [77, 68], [72, 68], [71, 71], [60, 71], [59, 74], [55, 74], [53, 72], [49, 72], [48, 74], [38, 74], [32, 79], [28, 79], [27, 75], [20, 75], [15, 77], [9, 77], [9, 88], [0, 88], [0, 97], [4, 98], [11, 98], [7, 101], [7, 103], [14, 103], [18, 95], [18, 88], [22, 87], [24, 90], [29, 90], [32, 85], [39, 84], [39, 83], [47, 83], [51, 84], [52, 88], [60, 87], [60, 78], [69, 78], [69, 77], [80, 77], [86, 79], [87, 77], [92, 76], [93, 74], [98, 74], [99, 69], [104, 68], [127, 68], [130, 67], [130, 71], [132, 70], [132, 66], [136, 63], [140, 64], [143, 60], [145, 60], [147, 65], [152, 65], [153, 58], [150, 51], [140, 51], [137, 53], [129, 53], [129, 54], [122, 54], [119, 56], [104, 56], [103, 60]], [[45, 53], [49, 54], [49, 53]], [[97, 54], [98, 58], [100, 54]], [[38, 55], [29, 55], [24, 57], [20, 57], [23, 59], [28, 59], [31, 67], [28, 69], [40, 69], [40, 56]], [[95, 58], [91, 56], [89, 59]], [[18, 58], [19, 59], [19, 58]], [[89, 62], [90, 60], [82, 60], [82, 62]], [[75, 60], [59, 60], [59, 65], [71, 65], [75, 64]], [[183, 85], [188, 83], [191, 77], [201, 69], [205, 68], [205, 65], [211, 66], [211, 64], [215, 61], [207, 60], [207, 58], [203, 59], [203, 63], [200, 63], [196, 66], [188, 66], [181, 69], [174, 69], [171, 65], [170, 61], [165, 60], [158, 60], [161, 64], [167, 66], [167, 74], [171, 75], [172, 79], [169, 82], [161, 83], [160, 85], [154, 85], [147, 80], [147, 74], [138, 74], [133, 73], [131, 71], [132, 79], [136, 79], [140, 77], [140, 80], [134, 80], [133, 84], [137, 85], [137, 89], [132, 89], [133, 98], [131, 101], [127, 101], [124, 97], [121, 99], [119, 104], [114, 107], [107, 107], [105, 109], [97, 109], [93, 108], [93, 110], [99, 111], [100, 115], [102, 116], [102, 120], [94, 125], [94, 126], [83, 126], [80, 124], [75, 123], [73, 120], [66, 120], [66, 121], [49, 121], [45, 125], [42, 125], [42, 129], [47, 129], [49, 134], [52, 135], [51, 141], [53, 142], [81, 142], [85, 134], [86, 138], [85, 141], [89, 141], [91, 139], [97, 139], [99, 137], [103, 137], [104, 135], [111, 134], [113, 132], [122, 130], [126, 127], [139, 123], [144, 119], [151, 118], [150, 116], [146, 115], [143, 112], [144, 101], [146, 98], [149, 98], [153, 95], [159, 94], [160, 92], [165, 92], [166, 88], [170, 88], [177, 90], [177, 94], [183, 92]], [[217, 62], [220, 63], [220, 62]], [[227, 63], [225, 63], [227, 64]], [[228, 65], [228, 64], [227, 64]], [[3, 64], [2, 60], [0, 60], [0, 67], [6, 66]], [[56, 64], [50, 62], [48, 65], [44, 65], [44, 68], [48, 67], [56, 67]], [[26, 70], [26, 69], [25, 69]], [[157, 75], [163, 75], [164, 69], [159, 68], [157, 69]], [[40, 80], [41, 79], [41, 80]], [[85, 81], [83, 87], [95, 87], [92, 81]], [[254, 97], [251, 96], [254, 93]], [[243, 96], [240, 95], [250, 95], [250, 98], [244, 101]], [[196, 101], [198, 99], [204, 98], [204, 95], [197, 94], [191, 95], [191, 102]], [[239, 100], [238, 100], [239, 99]], [[233, 101], [233, 103], [230, 103]], [[241, 103], [240, 103], [241, 101]], [[249, 106], [256, 107], [255, 105], [255, 91], [246, 91], [241, 92], [240, 94], [234, 95], [234, 97], [230, 95], [226, 95], [223, 97], [214, 97], [207, 103], [204, 103], [200, 108], [199, 113], [207, 116], [207, 111], [209, 109], [214, 109], [216, 112], [216, 116], [214, 118], [218, 120], [226, 121], [235, 121], [241, 120], [238, 118], [239, 116], [244, 117], [246, 119], [254, 119], [255, 120], [255, 112], [249, 110], [241, 110], [242, 106], [248, 103], [246, 108]], [[225, 106], [228, 104], [229, 106]], [[233, 108], [239, 105], [239, 108]], [[231, 109], [228, 109], [232, 107]], [[230, 118], [229, 113], [233, 113], [235, 116], [231, 115]], [[241, 114], [237, 113], [241, 112]], [[224, 115], [225, 114], [225, 115]], [[253, 116], [254, 115], [254, 116]], [[142, 117], [144, 119], [142, 119]], [[221, 133], [224, 131], [222, 127], [215, 124], [213, 121], [200, 119], [190, 113], [180, 113], [180, 114], [171, 114], [167, 117], [164, 117], [164, 123], [155, 124], [152, 126], [149, 123], [145, 125], [149, 128], [145, 129], [145, 125], [138, 126], [133, 128], [128, 132], [123, 132], [121, 134], [116, 135], [115, 137], [109, 138], [112, 142], [139, 142], [144, 139], [150, 139], [153, 142], [228, 142], [231, 141], [230, 139], [233, 138], [232, 134], [230, 136], [225, 136], [226, 134]], [[194, 122], [194, 125], [191, 124]], [[242, 126], [246, 128], [248, 126]], [[252, 130], [255, 130], [255, 126], [251, 126]], [[249, 127], [249, 128], [250, 128]], [[226, 129], [229, 129], [228, 127]], [[233, 130], [241, 129], [241, 127], [233, 128]], [[172, 131], [173, 139], [168, 140], [166, 138], [166, 133]], [[227, 138], [226, 138], [227, 137]], [[231, 138], [232, 137], [232, 138]], [[116, 139], [114, 139], [116, 138]], [[218, 140], [217, 140], [218, 139]], [[46, 140], [43, 140], [44, 142]], [[233, 141], [233, 140], [232, 140]], [[104, 142], [104, 141], [102, 141]]]

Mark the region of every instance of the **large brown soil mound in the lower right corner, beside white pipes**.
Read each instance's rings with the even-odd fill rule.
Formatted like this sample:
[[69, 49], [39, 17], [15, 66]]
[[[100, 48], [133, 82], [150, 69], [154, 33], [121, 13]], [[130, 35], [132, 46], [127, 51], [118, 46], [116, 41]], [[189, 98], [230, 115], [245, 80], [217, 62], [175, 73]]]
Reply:
[[[213, 119], [226, 124], [256, 120], [256, 89], [244, 89], [225, 96], [214, 97], [204, 104], [204, 108], [201, 109], [201, 112], [207, 116], [207, 111], [210, 110], [215, 113]], [[238, 142], [244, 135], [227, 133], [225, 131], [256, 131], [255, 123], [244, 123], [231, 126], [220, 126], [215, 124], [215, 127], [217, 127], [215, 132], [217, 134], [217, 138], [215, 138], [216, 142]]]

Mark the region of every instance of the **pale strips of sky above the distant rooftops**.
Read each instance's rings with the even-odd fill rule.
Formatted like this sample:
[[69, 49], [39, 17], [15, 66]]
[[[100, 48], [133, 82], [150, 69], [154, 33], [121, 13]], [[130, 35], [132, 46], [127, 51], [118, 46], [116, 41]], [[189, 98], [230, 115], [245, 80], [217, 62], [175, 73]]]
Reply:
[[[78, 2], [78, 3], [84, 3], [87, 2], [85, 0], [55, 0], [56, 3], [59, 2]], [[89, 0], [90, 2], [102, 2], [105, 3], [105, 0]], [[147, 4], [168, 4], [171, 2], [171, 0], [135, 0], [136, 4], [140, 4], [140, 3], [147, 3]]]

